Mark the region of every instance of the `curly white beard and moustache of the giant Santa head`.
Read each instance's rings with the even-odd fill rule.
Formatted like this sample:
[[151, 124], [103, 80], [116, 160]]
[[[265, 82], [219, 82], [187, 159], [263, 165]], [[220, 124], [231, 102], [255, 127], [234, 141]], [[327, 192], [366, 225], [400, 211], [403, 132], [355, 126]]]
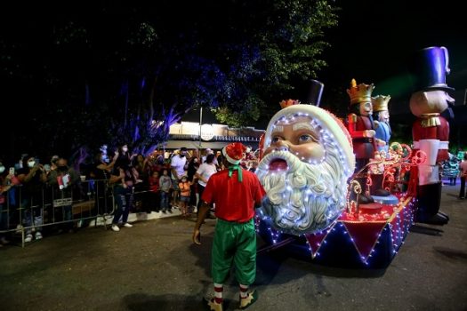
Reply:
[[[293, 235], [329, 227], [345, 208], [348, 176], [338, 151], [326, 149], [321, 163], [305, 163], [289, 151], [264, 156], [256, 174], [266, 190], [262, 212], [272, 226]], [[274, 159], [286, 161], [287, 171], [270, 171]]]

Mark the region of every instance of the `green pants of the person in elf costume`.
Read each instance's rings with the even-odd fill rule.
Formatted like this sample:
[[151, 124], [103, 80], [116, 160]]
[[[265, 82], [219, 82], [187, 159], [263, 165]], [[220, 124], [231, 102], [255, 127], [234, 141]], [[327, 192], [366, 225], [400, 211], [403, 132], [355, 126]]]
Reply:
[[253, 219], [230, 222], [217, 219], [213, 240], [213, 283], [223, 284], [229, 277], [232, 260], [238, 283], [250, 285], [256, 276], [256, 231]]

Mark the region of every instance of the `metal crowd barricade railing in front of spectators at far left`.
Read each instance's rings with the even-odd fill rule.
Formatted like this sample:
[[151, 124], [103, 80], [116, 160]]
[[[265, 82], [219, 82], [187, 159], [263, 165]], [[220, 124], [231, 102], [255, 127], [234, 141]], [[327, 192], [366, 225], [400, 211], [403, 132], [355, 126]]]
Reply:
[[115, 211], [112, 187], [106, 179], [78, 181], [61, 191], [56, 186], [26, 192], [13, 186], [4, 193], [5, 202], [0, 210], [0, 233], [20, 235], [24, 247], [26, 235], [37, 231], [59, 233], [62, 227], [87, 227], [104, 225]]

